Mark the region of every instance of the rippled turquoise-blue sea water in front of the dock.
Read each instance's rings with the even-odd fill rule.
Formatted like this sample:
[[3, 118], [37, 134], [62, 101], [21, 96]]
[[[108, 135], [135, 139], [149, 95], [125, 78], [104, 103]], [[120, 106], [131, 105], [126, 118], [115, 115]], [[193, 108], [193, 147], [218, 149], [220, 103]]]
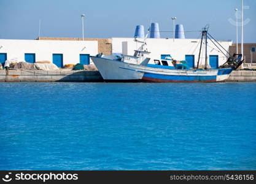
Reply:
[[0, 169], [256, 169], [256, 83], [0, 83]]

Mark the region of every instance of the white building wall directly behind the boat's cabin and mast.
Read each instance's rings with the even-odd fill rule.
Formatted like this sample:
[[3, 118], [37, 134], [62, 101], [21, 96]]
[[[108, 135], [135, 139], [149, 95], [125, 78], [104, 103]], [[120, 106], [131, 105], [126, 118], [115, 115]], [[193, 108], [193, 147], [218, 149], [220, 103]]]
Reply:
[[[143, 39], [138, 39], [143, 40]], [[197, 66], [198, 55], [200, 51], [201, 39], [147, 39], [147, 50], [150, 53], [150, 63], [153, 63], [153, 59], [161, 59], [161, 55], [169, 54], [174, 59], [180, 61], [185, 60], [185, 55], [195, 55], [195, 66]], [[138, 49], [141, 44], [134, 42], [134, 38], [112, 38], [112, 53], [122, 53], [122, 42], [127, 42], [128, 55], [133, 55], [134, 50]], [[229, 47], [232, 44], [231, 41], [219, 41], [225, 50], [229, 51]], [[202, 47], [205, 47], [203, 45]], [[228, 56], [228, 53], [225, 52]], [[219, 66], [227, 61], [227, 57], [220, 52], [217, 47], [210, 40], [208, 40], [208, 64], [209, 55], [219, 55]], [[200, 65], [205, 63], [205, 52], [201, 55]]]

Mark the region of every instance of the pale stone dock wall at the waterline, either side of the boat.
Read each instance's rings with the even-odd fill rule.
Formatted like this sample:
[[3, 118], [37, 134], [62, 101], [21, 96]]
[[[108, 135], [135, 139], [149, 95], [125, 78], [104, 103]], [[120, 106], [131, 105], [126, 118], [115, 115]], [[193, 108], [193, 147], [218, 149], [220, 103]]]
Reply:
[[[233, 71], [228, 82], [256, 82], [256, 71]], [[0, 82], [103, 82], [98, 71], [0, 71]]]

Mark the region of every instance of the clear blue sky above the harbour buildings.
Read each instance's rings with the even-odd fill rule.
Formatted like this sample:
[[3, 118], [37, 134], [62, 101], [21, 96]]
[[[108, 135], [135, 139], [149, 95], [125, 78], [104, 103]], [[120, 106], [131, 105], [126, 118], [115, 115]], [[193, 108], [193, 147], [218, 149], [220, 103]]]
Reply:
[[[244, 41], [256, 42], [256, 1], [244, 0]], [[82, 37], [80, 14], [85, 14], [85, 37], [133, 37], [136, 25], [149, 27], [158, 22], [160, 31], [172, 31], [171, 17], [183, 24], [185, 31], [201, 30], [209, 24], [209, 33], [220, 40], [236, 40], [235, 8], [241, 0], [0, 0], [0, 39], [35, 39], [41, 19], [41, 36]], [[239, 20], [240, 21], [240, 20]], [[240, 28], [239, 28], [240, 31]], [[173, 33], [161, 33], [172, 37]], [[199, 33], [185, 33], [198, 37]], [[240, 37], [240, 33], [239, 33]], [[240, 38], [239, 38], [240, 42]]]

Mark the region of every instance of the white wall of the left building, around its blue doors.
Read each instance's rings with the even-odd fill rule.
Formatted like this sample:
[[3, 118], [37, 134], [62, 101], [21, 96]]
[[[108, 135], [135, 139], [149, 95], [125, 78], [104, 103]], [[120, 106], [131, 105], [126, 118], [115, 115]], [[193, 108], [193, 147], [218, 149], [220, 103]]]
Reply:
[[7, 53], [7, 59], [18, 61], [25, 61], [25, 53], [35, 53], [36, 61], [51, 62], [53, 53], [61, 53], [63, 65], [77, 64], [80, 54], [98, 54], [98, 41], [0, 39], [0, 53]]

